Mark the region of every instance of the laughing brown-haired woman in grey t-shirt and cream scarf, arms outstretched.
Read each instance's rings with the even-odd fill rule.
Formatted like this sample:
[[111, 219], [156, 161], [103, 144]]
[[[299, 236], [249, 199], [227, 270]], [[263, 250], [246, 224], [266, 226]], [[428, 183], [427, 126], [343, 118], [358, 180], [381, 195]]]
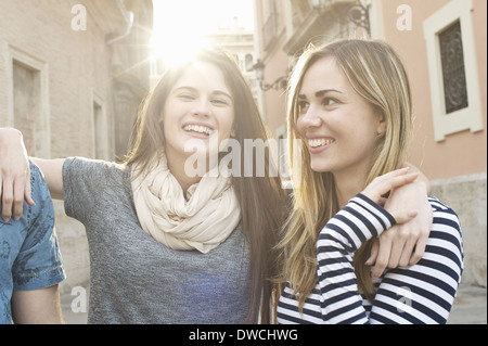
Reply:
[[[268, 167], [265, 177], [248, 178], [210, 167], [218, 163], [210, 134], [218, 148], [230, 138], [241, 150], [244, 139], [267, 141], [233, 59], [203, 50], [169, 68], [145, 100], [123, 165], [36, 159], [51, 194], [87, 231], [89, 323], [269, 321], [267, 279], [275, 274], [271, 249], [284, 221], [284, 190]], [[22, 138], [12, 130], [10, 138], [0, 161], [22, 176]], [[185, 167], [195, 148], [203, 177]], [[252, 164], [249, 155], [237, 156], [242, 169]], [[3, 187], [12, 189], [5, 180]], [[21, 188], [9, 193], [23, 194]]]

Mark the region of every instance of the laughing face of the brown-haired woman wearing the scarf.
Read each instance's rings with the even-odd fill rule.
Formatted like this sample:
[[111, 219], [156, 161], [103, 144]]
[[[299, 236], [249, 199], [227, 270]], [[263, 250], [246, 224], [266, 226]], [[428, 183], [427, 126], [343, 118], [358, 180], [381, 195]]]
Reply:
[[233, 134], [233, 121], [234, 101], [221, 71], [209, 63], [191, 64], [175, 84], [163, 111], [170, 165], [184, 164], [196, 148], [208, 155], [210, 143], [220, 146]]

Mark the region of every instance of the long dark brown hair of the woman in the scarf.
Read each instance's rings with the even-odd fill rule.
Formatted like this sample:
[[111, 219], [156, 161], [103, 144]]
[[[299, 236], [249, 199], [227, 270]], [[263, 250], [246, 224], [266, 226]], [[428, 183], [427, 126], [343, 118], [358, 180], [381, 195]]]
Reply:
[[[163, 123], [159, 121], [166, 99], [192, 62], [210, 63], [223, 74], [226, 84], [234, 99], [234, 139], [239, 141], [241, 150], [241, 167], [255, 167], [254, 155], [244, 152], [244, 140], [269, 139], [266, 127], [251, 92], [248, 82], [242, 76], [233, 57], [219, 49], [200, 50], [192, 60], [171, 66], [160, 78], [155, 89], [142, 103], [138, 119], [134, 124], [129, 142], [126, 165], [138, 164], [142, 171], [151, 169], [154, 155], [164, 152], [165, 138]], [[157, 156], [156, 156], [157, 157]], [[285, 219], [286, 196], [281, 187], [278, 175], [270, 174], [269, 150], [265, 154], [265, 176], [252, 177], [240, 175], [232, 177], [232, 185], [239, 198], [242, 214], [243, 232], [251, 246], [251, 282], [247, 322], [270, 322], [270, 297], [272, 283], [270, 278], [277, 274], [275, 256], [273, 248], [277, 244], [277, 233]]]

